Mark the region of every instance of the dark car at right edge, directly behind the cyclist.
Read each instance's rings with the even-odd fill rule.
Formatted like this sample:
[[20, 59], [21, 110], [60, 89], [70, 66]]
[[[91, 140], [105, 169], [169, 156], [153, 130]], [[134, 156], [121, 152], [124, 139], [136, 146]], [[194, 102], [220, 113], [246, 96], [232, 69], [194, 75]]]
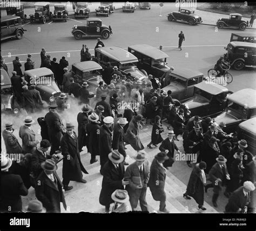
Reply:
[[256, 44], [247, 42], [231, 42], [224, 47], [227, 53], [225, 60], [235, 70], [242, 70], [246, 67], [256, 67]]

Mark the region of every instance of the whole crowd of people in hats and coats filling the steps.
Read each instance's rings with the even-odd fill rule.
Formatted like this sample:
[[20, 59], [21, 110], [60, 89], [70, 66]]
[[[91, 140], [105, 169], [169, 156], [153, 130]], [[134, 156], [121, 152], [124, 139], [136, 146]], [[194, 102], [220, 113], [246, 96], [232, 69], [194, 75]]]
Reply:
[[[98, 39], [95, 48], [102, 46], [104, 44]], [[95, 93], [91, 93], [86, 81], [72, 76], [65, 57], [59, 63], [56, 58], [52, 61], [50, 58], [42, 48], [41, 67], [52, 70], [63, 93], [49, 103], [49, 112], [37, 119], [41, 126], [41, 140], [36, 140], [32, 130], [35, 123], [32, 116], [33, 112], [41, 110], [44, 102], [35, 85], [30, 85], [24, 79], [19, 58], [16, 57], [13, 62], [11, 83], [14, 96], [32, 116], [26, 117], [24, 125], [19, 128], [22, 145], [12, 133], [14, 126], [11, 121], [5, 124], [2, 132], [7, 155], [2, 154], [1, 157], [1, 211], [21, 212], [21, 195], [27, 195], [30, 187], [35, 188], [36, 197], [42, 202], [41, 205], [32, 201], [32, 205], [43, 206], [46, 212], [60, 212], [60, 202], [66, 208], [64, 192], [73, 188], [69, 186], [70, 181], [86, 183], [83, 173], [88, 172], [80, 159], [80, 152], [86, 146], [91, 155], [90, 164], [97, 162], [99, 155], [99, 172], [103, 175], [99, 203], [105, 206], [105, 212], [110, 211], [113, 202], [114, 212], [134, 210], [138, 202], [143, 211], [149, 211], [146, 202], [149, 187], [153, 199], [160, 201], [159, 210], [169, 213], [166, 208], [165, 178], [167, 169], [176, 161], [175, 150], [181, 154], [175, 143], [180, 135], [188, 167], [192, 167], [191, 153], [197, 154], [197, 164], [191, 173], [184, 198], [194, 198], [199, 209], [205, 210], [204, 194], [213, 187], [212, 203], [217, 207], [218, 196], [226, 186], [226, 212], [245, 212], [245, 208], [255, 206], [251, 199], [255, 189], [256, 160], [246, 150], [246, 140], [238, 140], [232, 134], [227, 134], [224, 122], [216, 125], [210, 117], [191, 117], [185, 105], [172, 99], [171, 91], [161, 89], [161, 86], [169, 85], [173, 67], [160, 79], [149, 74], [148, 78], [140, 80], [131, 74], [122, 74], [117, 66], [107, 63], [102, 73], [104, 81], [99, 81]], [[80, 61], [86, 60], [95, 58], [83, 45]], [[3, 64], [1, 57], [1, 66], [5, 69]], [[30, 55], [24, 65], [25, 70], [33, 69], [34, 64]], [[67, 93], [69, 97], [77, 99], [82, 108], [81, 112], [77, 112], [78, 134], [73, 123], [63, 123], [62, 113], [72, 110], [72, 105], [68, 106]], [[139, 136], [143, 122], [147, 123], [148, 120], [153, 126], [151, 141], [146, 148], [152, 149], [160, 144], [151, 166], [147, 161], [145, 144]], [[166, 139], [161, 137], [163, 121], [169, 125]], [[126, 144], [137, 152], [136, 161], [131, 165], [126, 162]], [[12, 161], [9, 154], [21, 155], [21, 161]], [[60, 161], [63, 161], [62, 181], [56, 173]], [[206, 184], [207, 180], [211, 183]]]

